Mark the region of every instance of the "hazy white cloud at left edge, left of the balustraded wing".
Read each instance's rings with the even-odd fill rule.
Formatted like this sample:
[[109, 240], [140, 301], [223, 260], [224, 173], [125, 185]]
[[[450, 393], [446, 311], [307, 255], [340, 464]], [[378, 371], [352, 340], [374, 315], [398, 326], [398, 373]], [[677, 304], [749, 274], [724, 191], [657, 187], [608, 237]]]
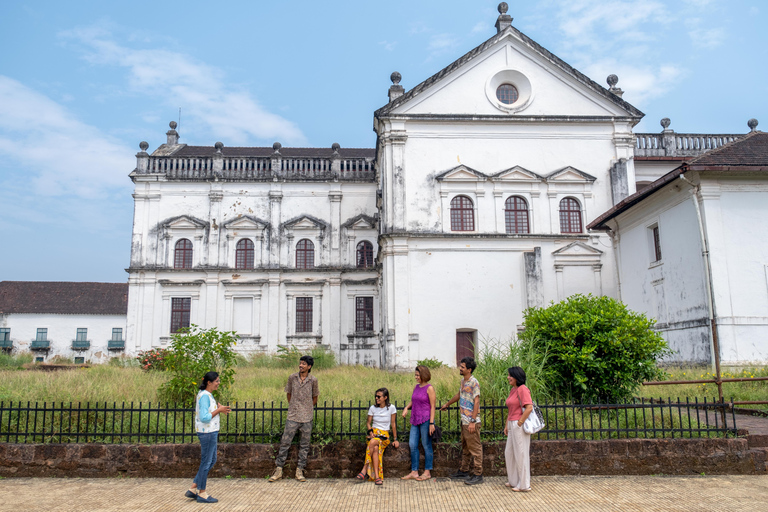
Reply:
[[[0, 155], [22, 168], [25, 187], [46, 196], [94, 198], [127, 186], [131, 150], [68, 109], [0, 75]], [[23, 167], [22, 167], [23, 166]], [[27, 181], [27, 179], [29, 181]]]

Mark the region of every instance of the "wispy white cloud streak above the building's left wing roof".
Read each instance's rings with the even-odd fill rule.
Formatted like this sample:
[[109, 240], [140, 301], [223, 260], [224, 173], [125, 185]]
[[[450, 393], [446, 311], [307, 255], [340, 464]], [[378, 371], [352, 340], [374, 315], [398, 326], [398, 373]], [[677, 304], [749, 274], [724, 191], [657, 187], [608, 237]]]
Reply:
[[82, 44], [84, 58], [94, 65], [126, 68], [130, 91], [183, 107], [185, 116], [207, 125], [227, 144], [244, 145], [254, 138], [289, 145], [306, 142], [294, 123], [267, 111], [250, 92], [227, 81], [222, 70], [189, 55], [123, 46], [100, 26], [69, 30], [61, 37]]

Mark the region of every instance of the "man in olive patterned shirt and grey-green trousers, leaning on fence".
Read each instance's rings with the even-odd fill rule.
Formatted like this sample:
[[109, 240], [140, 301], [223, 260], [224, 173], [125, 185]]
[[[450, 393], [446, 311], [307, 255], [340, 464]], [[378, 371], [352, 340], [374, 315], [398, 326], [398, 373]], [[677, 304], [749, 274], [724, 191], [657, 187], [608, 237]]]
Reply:
[[299, 443], [299, 462], [296, 464], [296, 480], [306, 482], [304, 478], [304, 468], [307, 465], [307, 454], [309, 453], [309, 439], [312, 436], [312, 417], [314, 416], [314, 407], [317, 405], [317, 397], [320, 394], [320, 387], [317, 379], [310, 375], [315, 360], [312, 356], [302, 356], [299, 359], [299, 372], [288, 377], [288, 383], [285, 385], [285, 392], [288, 394], [288, 418], [285, 421], [285, 430], [280, 440], [280, 451], [275, 460], [275, 472], [269, 477], [270, 482], [280, 480], [283, 477], [283, 466], [288, 457], [288, 449], [296, 435], [296, 431], [301, 431], [301, 442]]

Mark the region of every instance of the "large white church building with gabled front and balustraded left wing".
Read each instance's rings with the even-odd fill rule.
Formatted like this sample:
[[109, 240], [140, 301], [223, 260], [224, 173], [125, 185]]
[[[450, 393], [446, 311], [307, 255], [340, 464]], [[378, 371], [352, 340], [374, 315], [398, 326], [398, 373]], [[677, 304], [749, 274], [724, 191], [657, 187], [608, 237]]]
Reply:
[[[642, 294], [615, 233], [587, 225], [744, 135], [677, 134], [666, 119], [634, 133], [643, 113], [614, 75], [601, 86], [499, 12], [493, 37], [412, 89], [392, 74], [375, 148], [188, 146], [175, 123], [151, 154], [142, 142], [126, 351], [196, 324], [236, 331], [244, 352], [455, 364], [516, 334], [528, 307]], [[668, 339], [675, 358], [708, 362], [707, 336]], [[744, 354], [730, 360], [765, 361], [768, 341]]]

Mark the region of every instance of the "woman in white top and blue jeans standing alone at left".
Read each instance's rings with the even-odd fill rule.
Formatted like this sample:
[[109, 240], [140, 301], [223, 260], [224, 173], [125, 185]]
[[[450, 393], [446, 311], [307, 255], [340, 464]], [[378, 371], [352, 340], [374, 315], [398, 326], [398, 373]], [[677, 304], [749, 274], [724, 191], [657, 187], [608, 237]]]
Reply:
[[200, 440], [200, 469], [197, 470], [192, 487], [184, 494], [199, 503], [216, 503], [217, 500], [205, 492], [208, 472], [216, 464], [216, 444], [219, 438], [219, 414], [229, 414], [228, 405], [218, 405], [212, 392], [219, 389], [221, 380], [216, 372], [208, 372], [200, 383], [200, 392], [195, 399], [195, 432]]

